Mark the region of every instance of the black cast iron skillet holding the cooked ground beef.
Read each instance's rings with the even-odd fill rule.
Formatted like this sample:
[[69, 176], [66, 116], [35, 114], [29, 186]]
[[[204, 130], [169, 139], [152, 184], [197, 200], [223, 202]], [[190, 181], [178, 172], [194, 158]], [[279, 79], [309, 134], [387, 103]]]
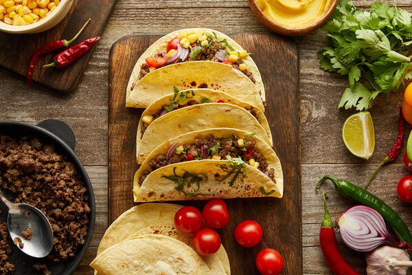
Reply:
[[[86, 170], [73, 152], [76, 146], [76, 137], [74, 136], [73, 131], [71, 130], [69, 125], [60, 120], [44, 120], [37, 125], [16, 121], [0, 121], [0, 134], [11, 135], [13, 137], [19, 137], [19, 135], [30, 135], [33, 137], [38, 137], [38, 139], [40, 139], [43, 143], [54, 144], [56, 153], [66, 155], [69, 158], [70, 162], [73, 162], [73, 164], [76, 165], [78, 174], [82, 178], [82, 181], [84, 182], [87, 188], [87, 193], [89, 195], [89, 207], [91, 212], [89, 216], [90, 220], [87, 239], [82, 248], [78, 250], [76, 256], [71, 258], [69, 261], [60, 262], [56, 265], [47, 265], [49, 271], [52, 272], [52, 275], [72, 274], [74, 270], [76, 270], [76, 267], [79, 265], [80, 261], [82, 261], [87, 248], [89, 248], [96, 216], [95, 198], [93, 188], [91, 186], [91, 181], [86, 173]], [[8, 196], [8, 193], [5, 192], [5, 195]], [[3, 207], [3, 205], [0, 205], [0, 210], [2, 210], [1, 221], [7, 221], [7, 210]], [[16, 265], [16, 271], [14, 272], [14, 274], [33, 274], [33, 269], [31, 266], [34, 263], [38, 262], [38, 259], [27, 256], [19, 249], [14, 248], [14, 245], [12, 245], [12, 247], [13, 252], [9, 255], [8, 261]], [[38, 272], [38, 274], [43, 273]]]

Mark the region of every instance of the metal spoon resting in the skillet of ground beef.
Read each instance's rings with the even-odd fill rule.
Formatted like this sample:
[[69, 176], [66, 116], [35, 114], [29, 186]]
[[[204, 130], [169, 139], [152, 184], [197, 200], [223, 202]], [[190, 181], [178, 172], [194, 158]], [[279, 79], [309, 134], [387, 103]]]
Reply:
[[[25, 203], [12, 203], [4, 197], [0, 190], [0, 199], [8, 207], [7, 225], [10, 237], [17, 248], [25, 254], [35, 258], [47, 256], [53, 248], [53, 230], [49, 220], [34, 206]], [[30, 228], [32, 230], [32, 239], [27, 240], [21, 232]], [[23, 248], [16, 243], [16, 238], [20, 238]]]

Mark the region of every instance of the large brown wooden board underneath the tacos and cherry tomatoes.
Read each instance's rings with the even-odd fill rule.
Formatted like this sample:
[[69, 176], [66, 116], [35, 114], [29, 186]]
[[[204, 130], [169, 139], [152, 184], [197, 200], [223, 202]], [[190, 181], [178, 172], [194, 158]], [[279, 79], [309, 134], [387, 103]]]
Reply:
[[[126, 86], [139, 56], [160, 36], [126, 36], [110, 52], [108, 96], [108, 223], [135, 206], [133, 176], [137, 170], [136, 131], [143, 109], [125, 107]], [[284, 197], [227, 199], [231, 221], [218, 230], [231, 263], [232, 274], [259, 274], [255, 257], [275, 248], [285, 262], [282, 274], [302, 274], [301, 158], [299, 119], [299, 61], [295, 44], [275, 34], [234, 34], [231, 37], [258, 65], [266, 88], [266, 116], [273, 148], [282, 162]], [[181, 201], [203, 208], [205, 201]], [[253, 219], [263, 228], [262, 241], [242, 248], [233, 237], [241, 221]]]

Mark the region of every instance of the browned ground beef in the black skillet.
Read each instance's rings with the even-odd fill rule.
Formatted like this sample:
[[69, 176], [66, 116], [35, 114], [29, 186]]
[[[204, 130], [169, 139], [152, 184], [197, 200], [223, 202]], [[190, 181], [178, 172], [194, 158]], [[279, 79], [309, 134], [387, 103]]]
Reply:
[[[87, 188], [67, 157], [36, 138], [0, 135], [0, 188], [49, 219], [54, 246], [47, 259], [58, 263], [76, 255], [86, 241], [91, 210]], [[28, 239], [31, 231], [22, 234]]]

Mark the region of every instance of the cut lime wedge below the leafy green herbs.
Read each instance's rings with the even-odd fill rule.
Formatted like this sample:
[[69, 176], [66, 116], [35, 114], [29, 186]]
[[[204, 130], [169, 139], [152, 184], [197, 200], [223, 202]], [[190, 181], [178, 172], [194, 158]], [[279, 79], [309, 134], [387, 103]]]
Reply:
[[343, 124], [342, 137], [350, 153], [369, 159], [375, 148], [374, 122], [371, 114], [362, 111], [347, 118]]

